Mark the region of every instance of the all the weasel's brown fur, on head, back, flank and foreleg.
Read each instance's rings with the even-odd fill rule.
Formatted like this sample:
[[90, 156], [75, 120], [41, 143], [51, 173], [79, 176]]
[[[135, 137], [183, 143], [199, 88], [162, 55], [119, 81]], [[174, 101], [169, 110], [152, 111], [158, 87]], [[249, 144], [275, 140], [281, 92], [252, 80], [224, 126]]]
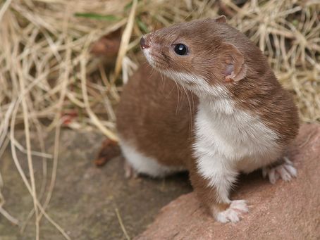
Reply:
[[[297, 135], [297, 108], [276, 80], [266, 58], [244, 34], [218, 20], [195, 20], [173, 25], [145, 36], [152, 43], [156, 68], [197, 75], [211, 86], [224, 86], [236, 107], [258, 117], [279, 136], [285, 149]], [[188, 46], [187, 56], [177, 56], [174, 44]], [[195, 83], [190, 83], [190, 86]], [[185, 165], [199, 199], [211, 211], [225, 210], [214, 187], [198, 173], [192, 159], [193, 131], [198, 98], [148, 65], [142, 65], [123, 89], [117, 110], [118, 132], [139, 151], [164, 165]], [[212, 96], [214, 99], [216, 96]]]

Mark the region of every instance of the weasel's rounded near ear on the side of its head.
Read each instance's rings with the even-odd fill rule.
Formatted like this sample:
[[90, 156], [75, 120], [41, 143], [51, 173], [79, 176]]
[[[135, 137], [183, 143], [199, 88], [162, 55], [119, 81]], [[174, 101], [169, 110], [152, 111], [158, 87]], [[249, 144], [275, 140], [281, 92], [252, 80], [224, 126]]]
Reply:
[[226, 82], [238, 82], [247, 74], [245, 58], [233, 44], [223, 43], [221, 53], [225, 64], [224, 74]]

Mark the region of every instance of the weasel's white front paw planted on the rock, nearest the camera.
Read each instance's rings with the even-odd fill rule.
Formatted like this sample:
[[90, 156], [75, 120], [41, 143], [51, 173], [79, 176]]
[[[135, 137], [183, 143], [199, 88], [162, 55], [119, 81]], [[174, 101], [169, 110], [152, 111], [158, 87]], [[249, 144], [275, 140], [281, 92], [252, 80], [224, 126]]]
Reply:
[[231, 201], [229, 208], [216, 214], [218, 222], [239, 222], [243, 213], [247, 213], [248, 207], [245, 200]]

